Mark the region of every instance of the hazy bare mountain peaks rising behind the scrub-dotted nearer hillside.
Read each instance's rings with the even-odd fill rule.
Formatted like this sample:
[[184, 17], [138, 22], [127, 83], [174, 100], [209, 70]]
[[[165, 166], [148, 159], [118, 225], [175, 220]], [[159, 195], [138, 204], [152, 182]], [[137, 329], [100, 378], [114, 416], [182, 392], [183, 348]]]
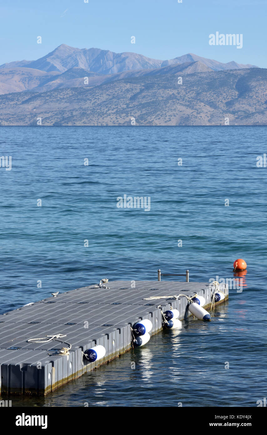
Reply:
[[[189, 64], [191, 64], [191, 67], [189, 67]], [[40, 59], [33, 61], [22, 60], [1, 65], [0, 94], [21, 92], [34, 88], [43, 91], [56, 87], [83, 86], [84, 77], [89, 77], [88, 85], [97, 86], [110, 80], [161, 74], [161, 69], [163, 74], [166, 74], [166, 68], [168, 67], [174, 67], [172, 71], [175, 74], [176, 70], [179, 70], [178, 65], [184, 65], [181, 71], [184, 70], [185, 74], [192, 74], [196, 71], [251, 67], [251, 65], [241, 65], [236, 62], [222, 64], [216, 60], [206, 59], [192, 53], [162, 61], [150, 59], [136, 53], [113, 53], [98, 48], [87, 50], [61, 44]], [[43, 75], [38, 71], [42, 71]], [[67, 71], [69, 71], [69, 74]], [[47, 74], [47, 76], [44, 74]], [[61, 77], [59, 78], [60, 74]], [[99, 78], [96, 79], [97, 76]], [[52, 83], [53, 81], [54, 83]]]

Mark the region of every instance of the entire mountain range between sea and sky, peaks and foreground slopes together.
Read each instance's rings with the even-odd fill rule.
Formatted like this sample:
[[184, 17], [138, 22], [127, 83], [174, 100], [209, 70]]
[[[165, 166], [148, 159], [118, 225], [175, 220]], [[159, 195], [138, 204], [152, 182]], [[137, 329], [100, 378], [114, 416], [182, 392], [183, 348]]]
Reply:
[[1, 65], [0, 94], [0, 125], [267, 124], [266, 69], [195, 54], [156, 60], [62, 44]]

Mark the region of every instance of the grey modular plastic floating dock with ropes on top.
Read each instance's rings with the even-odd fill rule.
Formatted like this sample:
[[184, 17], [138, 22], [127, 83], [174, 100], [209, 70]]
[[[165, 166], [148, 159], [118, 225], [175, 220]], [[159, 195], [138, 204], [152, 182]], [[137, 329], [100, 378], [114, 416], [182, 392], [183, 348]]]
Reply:
[[[131, 348], [131, 326], [150, 319], [150, 335], [162, 329], [161, 311], [177, 308], [180, 320], [190, 315], [187, 298], [181, 296], [144, 300], [150, 296], [195, 293], [204, 296], [208, 309], [211, 289], [208, 283], [177, 281], [111, 281], [110, 289], [78, 288], [0, 315], [0, 394], [46, 395], [61, 385], [107, 363]], [[228, 288], [220, 286], [228, 299]], [[218, 302], [217, 304], [219, 304]], [[215, 304], [215, 305], [217, 305]], [[49, 355], [62, 343], [27, 342], [45, 335], [67, 335], [70, 355]], [[105, 356], [87, 363], [82, 351], [103, 345]], [[150, 342], [146, 346], [151, 345]]]

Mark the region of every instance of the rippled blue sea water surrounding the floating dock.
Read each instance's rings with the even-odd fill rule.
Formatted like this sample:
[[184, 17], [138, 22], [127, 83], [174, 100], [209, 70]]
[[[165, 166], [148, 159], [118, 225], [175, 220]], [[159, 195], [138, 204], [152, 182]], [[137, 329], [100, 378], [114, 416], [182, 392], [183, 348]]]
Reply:
[[[254, 407], [267, 396], [267, 168], [256, 166], [266, 135], [240, 126], [0, 129], [0, 155], [12, 156], [11, 171], [0, 168], [0, 314], [100, 278], [157, 280], [158, 268], [188, 268], [190, 281], [208, 282], [247, 261], [243, 291], [230, 289], [211, 322], [190, 319], [13, 406]], [[118, 208], [123, 194], [150, 197], [150, 211]]]

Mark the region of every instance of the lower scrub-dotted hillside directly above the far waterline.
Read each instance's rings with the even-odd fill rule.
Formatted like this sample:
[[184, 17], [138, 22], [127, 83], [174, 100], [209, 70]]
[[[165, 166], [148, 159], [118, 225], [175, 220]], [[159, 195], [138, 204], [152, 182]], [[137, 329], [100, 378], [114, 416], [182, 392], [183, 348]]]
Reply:
[[2, 95], [0, 123], [131, 125], [134, 117], [136, 125], [224, 125], [229, 117], [230, 125], [267, 124], [267, 69], [197, 72], [181, 85], [177, 74]]

